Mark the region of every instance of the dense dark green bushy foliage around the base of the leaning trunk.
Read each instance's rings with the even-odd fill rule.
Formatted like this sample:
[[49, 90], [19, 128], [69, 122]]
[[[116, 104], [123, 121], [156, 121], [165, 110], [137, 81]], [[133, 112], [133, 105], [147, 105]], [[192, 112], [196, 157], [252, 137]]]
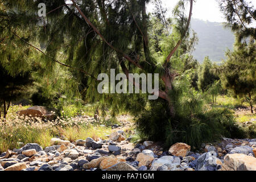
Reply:
[[142, 138], [164, 140], [167, 147], [175, 142], [200, 147], [200, 143], [212, 142], [221, 136], [245, 137], [230, 110], [205, 108], [203, 96], [188, 83], [188, 76], [183, 76], [175, 81], [175, 90], [170, 93], [176, 109], [175, 118], [168, 115], [168, 105], [164, 101], [150, 101], [150, 106], [136, 122]]

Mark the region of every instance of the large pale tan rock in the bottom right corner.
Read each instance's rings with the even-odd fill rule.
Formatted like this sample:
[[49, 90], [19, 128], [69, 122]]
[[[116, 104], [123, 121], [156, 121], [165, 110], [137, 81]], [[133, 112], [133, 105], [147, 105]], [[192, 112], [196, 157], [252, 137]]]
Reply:
[[256, 171], [256, 158], [245, 154], [228, 154], [221, 171]]

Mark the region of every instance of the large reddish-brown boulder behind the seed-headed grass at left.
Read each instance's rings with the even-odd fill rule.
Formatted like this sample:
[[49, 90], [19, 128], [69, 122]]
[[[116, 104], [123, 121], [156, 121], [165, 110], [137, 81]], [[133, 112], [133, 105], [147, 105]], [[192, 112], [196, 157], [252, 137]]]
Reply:
[[56, 117], [55, 114], [49, 113], [46, 110], [46, 107], [43, 107], [43, 106], [32, 106], [26, 110], [20, 110], [20, 111], [16, 112], [16, 114], [24, 115], [24, 116], [32, 117], [32, 118], [40, 117], [42, 119], [49, 119], [49, 120], [53, 120]]

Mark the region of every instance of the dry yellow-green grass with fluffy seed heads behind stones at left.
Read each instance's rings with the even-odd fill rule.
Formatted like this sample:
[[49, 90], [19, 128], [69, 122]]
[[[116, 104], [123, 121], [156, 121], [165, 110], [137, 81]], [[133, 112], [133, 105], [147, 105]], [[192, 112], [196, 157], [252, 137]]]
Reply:
[[55, 121], [44, 122], [40, 118], [19, 117], [13, 113], [15, 111], [9, 113], [6, 119], [0, 119], [0, 152], [20, 148], [19, 142], [38, 143], [45, 148], [54, 137], [71, 142], [87, 137], [97, 140], [106, 139], [105, 135], [111, 132], [110, 127], [102, 127], [100, 123], [82, 118], [57, 117]]

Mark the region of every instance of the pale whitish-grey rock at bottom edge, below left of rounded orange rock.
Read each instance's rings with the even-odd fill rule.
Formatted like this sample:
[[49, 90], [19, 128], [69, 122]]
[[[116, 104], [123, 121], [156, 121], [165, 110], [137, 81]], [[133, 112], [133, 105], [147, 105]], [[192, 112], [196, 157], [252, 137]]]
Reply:
[[156, 171], [160, 166], [164, 164], [180, 164], [180, 158], [177, 156], [162, 156], [162, 158], [156, 159], [152, 162], [150, 171]]

